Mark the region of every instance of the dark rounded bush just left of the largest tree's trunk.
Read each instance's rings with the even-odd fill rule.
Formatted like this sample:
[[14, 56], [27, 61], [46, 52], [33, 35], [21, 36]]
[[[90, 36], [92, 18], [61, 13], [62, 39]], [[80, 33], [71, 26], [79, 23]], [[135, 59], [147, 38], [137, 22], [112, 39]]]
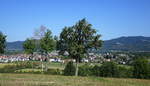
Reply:
[[73, 75], [75, 75], [75, 70], [76, 70], [76, 68], [75, 68], [73, 62], [71, 61], [66, 65], [66, 67], [64, 69], [64, 75], [73, 76]]

